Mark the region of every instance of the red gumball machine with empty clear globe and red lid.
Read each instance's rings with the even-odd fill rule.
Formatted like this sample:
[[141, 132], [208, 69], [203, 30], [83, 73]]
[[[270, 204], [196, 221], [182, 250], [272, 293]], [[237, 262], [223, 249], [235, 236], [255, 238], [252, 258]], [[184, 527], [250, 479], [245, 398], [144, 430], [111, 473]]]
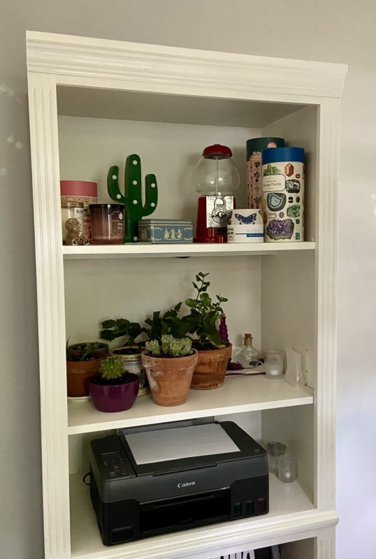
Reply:
[[236, 208], [234, 191], [240, 177], [226, 145], [209, 145], [194, 172], [198, 198], [194, 242], [227, 242], [227, 212]]

